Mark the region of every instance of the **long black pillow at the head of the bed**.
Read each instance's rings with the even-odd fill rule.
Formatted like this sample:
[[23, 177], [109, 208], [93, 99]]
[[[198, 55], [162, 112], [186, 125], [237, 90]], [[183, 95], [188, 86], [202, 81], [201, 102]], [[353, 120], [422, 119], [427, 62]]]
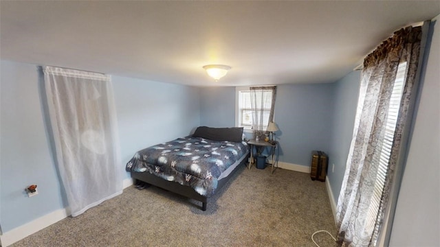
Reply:
[[201, 137], [212, 141], [234, 141], [241, 142], [243, 136], [243, 127], [232, 128], [210, 128], [200, 126], [195, 130], [192, 137]]

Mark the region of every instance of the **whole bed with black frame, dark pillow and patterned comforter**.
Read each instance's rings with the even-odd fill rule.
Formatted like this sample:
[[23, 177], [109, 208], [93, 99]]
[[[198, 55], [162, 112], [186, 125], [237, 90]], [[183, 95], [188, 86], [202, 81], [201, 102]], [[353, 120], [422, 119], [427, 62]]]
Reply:
[[201, 202], [230, 180], [248, 161], [243, 128], [201, 126], [188, 137], [153, 145], [135, 153], [126, 164], [131, 177]]

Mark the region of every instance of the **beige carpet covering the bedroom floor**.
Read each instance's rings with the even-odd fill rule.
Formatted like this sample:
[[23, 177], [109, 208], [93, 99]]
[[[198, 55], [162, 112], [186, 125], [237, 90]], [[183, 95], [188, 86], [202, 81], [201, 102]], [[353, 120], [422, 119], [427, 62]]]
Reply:
[[[311, 234], [336, 234], [325, 183], [309, 174], [244, 166], [208, 210], [149, 187], [67, 217], [13, 246], [315, 246]], [[336, 246], [325, 233], [320, 246]]]

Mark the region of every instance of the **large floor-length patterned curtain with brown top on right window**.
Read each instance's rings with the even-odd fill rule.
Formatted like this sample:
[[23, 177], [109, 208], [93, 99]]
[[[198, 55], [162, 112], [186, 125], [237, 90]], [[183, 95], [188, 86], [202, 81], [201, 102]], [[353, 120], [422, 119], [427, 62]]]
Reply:
[[[395, 32], [364, 60], [353, 139], [336, 213], [340, 246], [375, 246], [377, 242], [401, 147], [401, 133], [408, 115], [420, 41], [421, 27], [406, 27]], [[395, 100], [391, 99], [391, 95], [399, 64], [404, 62], [403, 93], [397, 104], [395, 128], [390, 130], [386, 123], [392, 107], [390, 102]], [[386, 161], [384, 186], [380, 188], [383, 189], [382, 196], [379, 196], [378, 205], [373, 205], [377, 190], [375, 181], [380, 173], [377, 157], [379, 152], [383, 152], [379, 147], [384, 145], [383, 140], [390, 131], [392, 143], [391, 150], [387, 150], [389, 159]]]

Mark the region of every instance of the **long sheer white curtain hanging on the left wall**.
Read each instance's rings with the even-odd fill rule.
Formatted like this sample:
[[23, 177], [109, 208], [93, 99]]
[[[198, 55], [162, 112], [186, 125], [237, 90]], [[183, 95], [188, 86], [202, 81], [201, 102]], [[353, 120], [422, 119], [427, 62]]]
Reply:
[[72, 216], [122, 193], [109, 75], [44, 67], [56, 161]]

